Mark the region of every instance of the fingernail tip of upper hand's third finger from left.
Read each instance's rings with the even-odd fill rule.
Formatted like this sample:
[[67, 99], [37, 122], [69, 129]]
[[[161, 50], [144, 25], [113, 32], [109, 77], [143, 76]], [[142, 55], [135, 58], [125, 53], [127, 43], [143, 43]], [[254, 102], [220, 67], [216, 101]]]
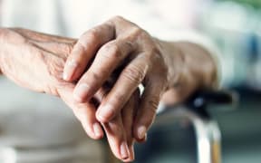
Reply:
[[104, 105], [101, 109], [98, 110], [98, 120], [102, 122], [107, 122], [111, 116], [113, 116], [113, 107], [111, 104]]

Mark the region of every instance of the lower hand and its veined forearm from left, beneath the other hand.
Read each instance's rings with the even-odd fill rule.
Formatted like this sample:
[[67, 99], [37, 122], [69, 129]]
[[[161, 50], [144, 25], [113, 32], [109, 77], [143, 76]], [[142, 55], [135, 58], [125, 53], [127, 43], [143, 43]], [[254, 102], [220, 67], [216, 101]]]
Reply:
[[[102, 127], [95, 118], [95, 112], [97, 103], [102, 101], [106, 92], [105, 89], [102, 87], [94, 96], [92, 100], [96, 102], [80, 103], [73, 100], [75, 85], [61, 79], [64, 62], [75, 42], [74, 39], [24, 29], [1, 29], [0, 67], [4, 74], [18, 85], [61, 97], [73, 109], [87, 134], [92, 139], [101, 139]], [[132, 96], [128, 105], [115, 119], [102, 124], [113, 153], [117, 158], [126, 161], [134, 158], [130, 130], [134, 117], [134, 99], [137, 97], [139, 98], [137, 95]]]

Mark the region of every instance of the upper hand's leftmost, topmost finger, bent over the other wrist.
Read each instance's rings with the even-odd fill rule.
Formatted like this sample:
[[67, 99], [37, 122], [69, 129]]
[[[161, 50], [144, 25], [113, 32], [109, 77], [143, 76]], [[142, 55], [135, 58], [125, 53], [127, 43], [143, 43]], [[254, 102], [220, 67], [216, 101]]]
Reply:
[[65, 63], [63, 80], [72, 82], [78, 79], [102, 44], [113, 37], [114, 27], [110, 23], [98, 25], [82, 34]]

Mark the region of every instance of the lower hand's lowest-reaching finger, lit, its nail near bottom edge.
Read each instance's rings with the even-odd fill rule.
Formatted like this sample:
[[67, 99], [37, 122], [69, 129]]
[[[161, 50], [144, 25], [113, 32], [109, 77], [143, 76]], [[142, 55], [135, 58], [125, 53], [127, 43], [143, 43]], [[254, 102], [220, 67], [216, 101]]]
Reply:
[[121, 160], [130, 157], [130, 150], [126, 140], [125, 129], [122, 124], [121, 115], [108, 123], [103, 123], [103, 129], [106, 132], [111, 151], [116, 158]]

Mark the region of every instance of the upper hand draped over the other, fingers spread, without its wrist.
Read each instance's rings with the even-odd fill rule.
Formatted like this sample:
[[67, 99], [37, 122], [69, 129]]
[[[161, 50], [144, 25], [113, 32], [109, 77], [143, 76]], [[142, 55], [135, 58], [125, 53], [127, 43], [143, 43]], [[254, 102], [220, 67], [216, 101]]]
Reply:
[[90, 101], [117, 71], [121, 72], [118, 80], [102, 100], [96, 117], [102, 122], [113, 119], [142, 83], [145, 90], [133, 133], [137, 140], [142, 140], [154, 120], [160, 97], [168, 88], [165, 56], [150, 34], [121, 17], [92, 28], [74, 45], [64, 66], [63, 79], [73, 82], [81, 77], [74, 98], [84, 102]]

